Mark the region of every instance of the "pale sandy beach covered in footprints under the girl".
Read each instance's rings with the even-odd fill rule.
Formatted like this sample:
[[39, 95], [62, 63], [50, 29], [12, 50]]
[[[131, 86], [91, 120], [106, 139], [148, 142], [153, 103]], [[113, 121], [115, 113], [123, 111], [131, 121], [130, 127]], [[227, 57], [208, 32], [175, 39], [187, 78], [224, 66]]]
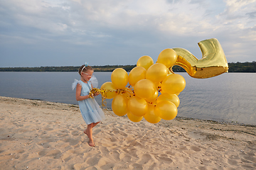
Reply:
[[0, 169], [256, 169], [255, 126], [105, 115], [90, 147], [78, 106], [0, 97]]

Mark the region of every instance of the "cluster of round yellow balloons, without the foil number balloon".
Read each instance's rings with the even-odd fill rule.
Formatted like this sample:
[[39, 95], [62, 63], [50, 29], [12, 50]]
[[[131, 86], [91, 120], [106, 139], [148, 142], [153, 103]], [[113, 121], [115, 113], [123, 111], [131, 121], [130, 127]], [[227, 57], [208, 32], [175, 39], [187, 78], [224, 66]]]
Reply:
[[177, 95], [186, 86], [181, 75], [169, 72], [176, 60], [172, 49], [163, 50], [155, 64], [151, 57], [142, 56], [129, 75], [122, 68], [114, 69], [111, 82], [102, 84], [101, 94], [113, 98], [112, 111], [116, 115], [127, 114], [133, 122], [142, 118], [149, 123], [174, 119], [180, 103]]

